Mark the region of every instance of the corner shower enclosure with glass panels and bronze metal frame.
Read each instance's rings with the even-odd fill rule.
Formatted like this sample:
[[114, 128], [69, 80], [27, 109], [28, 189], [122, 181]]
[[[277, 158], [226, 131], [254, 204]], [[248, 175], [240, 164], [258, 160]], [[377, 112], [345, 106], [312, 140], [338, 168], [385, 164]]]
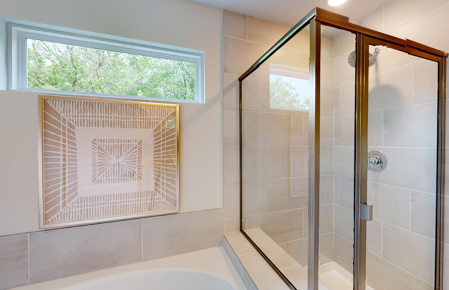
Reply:
[[240, 230], [291, 289], [442, 289], [446, 57], [316, 8], [240, 76]]

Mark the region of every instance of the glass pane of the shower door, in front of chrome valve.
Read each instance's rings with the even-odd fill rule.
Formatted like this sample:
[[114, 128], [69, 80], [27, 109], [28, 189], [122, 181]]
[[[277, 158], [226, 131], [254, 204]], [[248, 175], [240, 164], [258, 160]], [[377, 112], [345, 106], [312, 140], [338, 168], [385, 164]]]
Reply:
[[434, 289], [438, 66], [369, 51], [367, 289]]

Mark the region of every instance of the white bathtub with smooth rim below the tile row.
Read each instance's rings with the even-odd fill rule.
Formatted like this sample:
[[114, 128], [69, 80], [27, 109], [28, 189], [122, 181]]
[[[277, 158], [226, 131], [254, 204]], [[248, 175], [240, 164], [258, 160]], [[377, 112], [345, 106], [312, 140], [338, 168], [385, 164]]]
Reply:
[[221, 246], [14, 289], [246, 290]]

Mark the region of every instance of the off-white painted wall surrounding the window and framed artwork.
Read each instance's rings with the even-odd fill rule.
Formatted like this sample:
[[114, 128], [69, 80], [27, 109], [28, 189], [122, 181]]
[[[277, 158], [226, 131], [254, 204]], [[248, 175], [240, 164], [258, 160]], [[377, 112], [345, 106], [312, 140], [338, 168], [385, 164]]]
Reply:
[[[0, 0], [0, 6], [9, 18], [203, 50], [206, 103], [180, 103], [180, 211], [223, 206], [221, 9], [185, 0]], [[0, 91], [0, 108], [0, 236], [37, 231], [37, 94]]]

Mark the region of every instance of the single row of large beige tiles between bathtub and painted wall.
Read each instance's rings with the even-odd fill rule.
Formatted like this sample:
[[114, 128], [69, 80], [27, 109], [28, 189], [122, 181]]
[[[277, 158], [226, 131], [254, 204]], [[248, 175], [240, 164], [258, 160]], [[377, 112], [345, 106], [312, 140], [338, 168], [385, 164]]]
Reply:
[[215, 209], [0, 237], [0, 289], [220, 246], [223, 232]]

